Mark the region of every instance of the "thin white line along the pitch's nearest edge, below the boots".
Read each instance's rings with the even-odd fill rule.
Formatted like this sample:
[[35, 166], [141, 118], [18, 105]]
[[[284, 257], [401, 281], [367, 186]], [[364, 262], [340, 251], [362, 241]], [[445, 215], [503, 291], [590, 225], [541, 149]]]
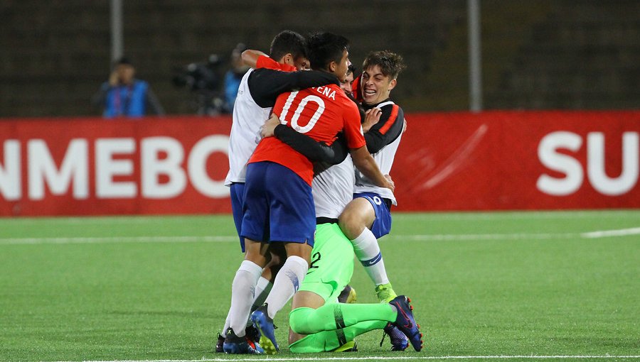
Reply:
[[[289, 357], [272, 358], [267, 357], [266, 361], [427, 361], [427, 360], [447, 360], [447, 359], [637, 359], [640, 356], [370, 356], [370, 357]], [[264, 358], [261, 358], [264, 360]], [[123, 360], [123, 361], [85, 361], [85, 362], [218, 362], [218, 361], [258, 361], [257, 358], [203, 358], [194, 360]], [[72, 362], [72, 361], [58, 361]]]

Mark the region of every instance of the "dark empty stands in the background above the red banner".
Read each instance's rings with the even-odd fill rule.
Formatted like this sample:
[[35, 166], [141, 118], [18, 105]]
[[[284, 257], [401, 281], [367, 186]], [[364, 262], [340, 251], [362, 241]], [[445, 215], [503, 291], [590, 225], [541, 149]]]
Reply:
[[[195, 111], [176, 67], [240, 42], [268, 50], [284, 28], [345, 35], [356, 65], [404, 55], [393, 95], [407, 111], [469, 107], [466, 0], [123, 2], [124, 53], [169, 114]], [[640, 1], [481, 0], [481, 14], [485, 109], [640, 108]], [[100, 114], [109, 1], [4, 0], [0, 18], [0, 116]]]

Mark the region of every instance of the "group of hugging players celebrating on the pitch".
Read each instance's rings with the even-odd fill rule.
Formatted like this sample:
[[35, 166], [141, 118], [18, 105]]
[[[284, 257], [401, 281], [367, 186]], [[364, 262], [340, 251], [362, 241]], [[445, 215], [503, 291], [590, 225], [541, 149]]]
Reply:
[[[390, 92], [405, 65], [374, 51], [356, 75], [348, 50], [341, 35], [282, 31], [268, 55], [242, 53], [251, 69], [233, 107], [225, 184], [245, 258], [217, 352], [277, 353], [273, 319], [292, 298], [292, 353], [356, 351], [356, 336], [374, 329], [392, 351], [422, 349], [378, 246], [396, 204], [389, 173], [407, 125]], [[355, 303], [354, 255], [379, 303]]]

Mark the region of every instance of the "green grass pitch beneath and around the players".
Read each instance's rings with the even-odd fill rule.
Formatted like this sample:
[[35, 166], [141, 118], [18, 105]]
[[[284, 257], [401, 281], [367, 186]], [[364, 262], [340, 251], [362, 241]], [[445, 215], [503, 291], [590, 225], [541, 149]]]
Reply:
[[[640, 360], [639, 228], [640, 211], [396, 213], [380, 246], [425, 349], [373, 331], [294, 355], [287, 305], [266, 357], [213, 353], [242, 260], [230, 216], [0, 219], [0, 361]], [[375, 302], [359, 265], [352, 285]]]

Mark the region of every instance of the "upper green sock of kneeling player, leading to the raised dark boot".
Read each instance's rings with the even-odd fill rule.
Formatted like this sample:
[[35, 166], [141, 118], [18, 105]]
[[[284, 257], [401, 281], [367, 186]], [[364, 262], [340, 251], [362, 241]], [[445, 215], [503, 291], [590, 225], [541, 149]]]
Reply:
[[352, 326], [358, 322], [394, 322], [398, 312], [387, 304], [331, 303], [318, 309], [296, 308], [289, 313], [289, 324], [299, 334], [314, 334]]

